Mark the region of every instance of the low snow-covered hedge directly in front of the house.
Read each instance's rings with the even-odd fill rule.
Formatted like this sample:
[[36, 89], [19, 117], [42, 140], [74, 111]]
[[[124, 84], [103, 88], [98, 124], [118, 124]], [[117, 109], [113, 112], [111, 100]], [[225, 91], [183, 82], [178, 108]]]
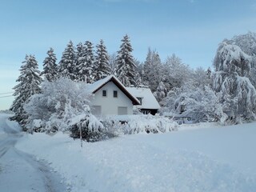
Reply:
[[177, 130], [178, 124], [169, 118], [158, 115], [129, 115], [114, 116], [102, 119], [102, 123], [106, 126], [109, 134], [138, 134], [138, 133], [166, 133]]

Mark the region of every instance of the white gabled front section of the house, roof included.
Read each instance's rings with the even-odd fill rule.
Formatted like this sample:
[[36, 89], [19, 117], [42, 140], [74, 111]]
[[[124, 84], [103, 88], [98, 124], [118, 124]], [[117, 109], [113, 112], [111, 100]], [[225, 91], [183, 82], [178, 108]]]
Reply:
[[94, 115], [133, 114], [133, 106], [140, 104], [114, 75], [94, 82], [89, 89], [94, 94], [90, 101]]

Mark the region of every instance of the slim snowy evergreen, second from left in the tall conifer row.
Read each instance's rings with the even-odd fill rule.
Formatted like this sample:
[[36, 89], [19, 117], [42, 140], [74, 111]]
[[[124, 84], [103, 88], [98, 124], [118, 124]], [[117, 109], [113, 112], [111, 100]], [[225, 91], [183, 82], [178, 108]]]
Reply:
[[58, 66], [56, 64], [56, 54], [54, 54], [54, 49], [50, 48], [47, 51], [48, 56], [43, 61], [43, 70], [41, 75], [43, 75], [49, 82], [54, 81], [58, 74]]

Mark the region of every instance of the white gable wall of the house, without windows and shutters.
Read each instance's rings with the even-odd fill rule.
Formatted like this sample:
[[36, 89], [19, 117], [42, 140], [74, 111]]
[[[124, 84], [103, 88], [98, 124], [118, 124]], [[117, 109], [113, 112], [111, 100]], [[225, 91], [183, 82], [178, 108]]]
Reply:
[[[106, 90], [106, 97], [102, 96], [102, 90]], [[118, 98], [113, 97], [114, 90], [118, 91]], [[114, 82], [108, 82], [98, 90], [94, 94], [90, 106], [101, 106], [101, 115], [118, 114], [118, 107], [127, 107], [127, 114], [133, 114], [133, 104], [130, 98], [128, 98]]]

